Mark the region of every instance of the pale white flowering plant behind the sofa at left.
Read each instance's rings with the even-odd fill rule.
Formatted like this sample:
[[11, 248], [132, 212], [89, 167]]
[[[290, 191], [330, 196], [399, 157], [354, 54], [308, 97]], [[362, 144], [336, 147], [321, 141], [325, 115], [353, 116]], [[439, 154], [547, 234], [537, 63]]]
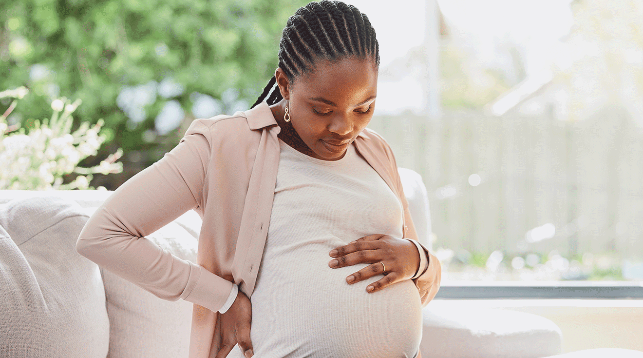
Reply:
[[[82, 122], [78, 129], [71, 131], [71, 114], [80, 105], [80, 100], [71, 102], [64, 97], [53, 100], [51, 118], [35, 121], [28, 132], [19, 124], [8, 125], [7, 117], [27, 93], [24, 87], [0, 91], [0, 99], [12, 99], [5, 113], [0, 115], [0, 189], [94, 189], [89, 186], [93, 174], [123, 170], [123, 164], [116, 162], [123, 154], [122, 149], [93, 167], [78, 166], [81, 160], [97, 155], [105, 141], [100, 133], [103, 120], [93, 125]], [[67, 174], [77, 176], [64, 184], [63, 176]]]

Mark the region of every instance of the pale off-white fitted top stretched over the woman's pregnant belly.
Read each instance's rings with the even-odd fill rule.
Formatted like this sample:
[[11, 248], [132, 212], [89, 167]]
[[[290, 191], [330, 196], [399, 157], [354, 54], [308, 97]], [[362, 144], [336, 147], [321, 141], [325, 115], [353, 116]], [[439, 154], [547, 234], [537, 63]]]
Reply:
[[[349, 146], [318, 160], [280, 142], [266, 249], [251, 297], [256, 357], [412, 358], [422, 337], [422, 305], [411, 280], [374, 292], [377, 275], [349, 285], [368, 264], [331, 268], [329, 252], [369, 234], [402, 237], [402, 205]], [[231, 357], [242, 357], [235, 346]]]

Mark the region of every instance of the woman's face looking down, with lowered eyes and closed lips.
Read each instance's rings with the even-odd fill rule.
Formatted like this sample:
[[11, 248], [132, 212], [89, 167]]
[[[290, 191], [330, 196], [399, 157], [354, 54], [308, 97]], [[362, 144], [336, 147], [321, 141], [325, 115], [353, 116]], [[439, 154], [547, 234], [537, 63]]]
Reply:
[[318, 61], [314, 71], [297, 77], [285, 90], [291, 124], [308, 147], [306, 154], [338, 160], [373, 117], [377, 68], [370, 59], [355, 57]]

